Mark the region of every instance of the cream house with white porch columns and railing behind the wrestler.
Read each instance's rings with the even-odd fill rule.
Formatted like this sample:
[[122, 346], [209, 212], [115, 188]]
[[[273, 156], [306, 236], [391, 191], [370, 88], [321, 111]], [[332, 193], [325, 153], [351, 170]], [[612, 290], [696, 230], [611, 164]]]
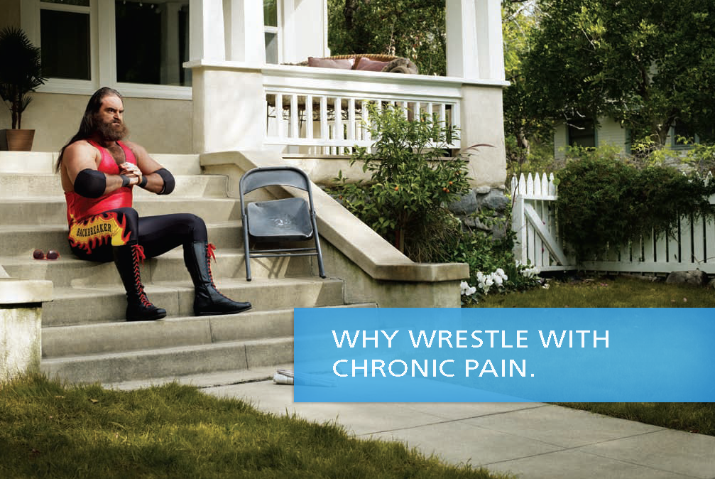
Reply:
[[506, 178], [501, 2], [446, 8], [447, 77], [287, 65], [330, 55], [326, 0], [0, 0], [0, 27], [42, 49], [49, 79], [23, 117], [34, 150], [59, 150], [102, 86], [122, 92], [132, 140], [155, 153], [344, 153], [369, 143], [364, 102], [381, 100], [438, 113], [462, 147], [493, 145], [470, 176], [495, 188]]

